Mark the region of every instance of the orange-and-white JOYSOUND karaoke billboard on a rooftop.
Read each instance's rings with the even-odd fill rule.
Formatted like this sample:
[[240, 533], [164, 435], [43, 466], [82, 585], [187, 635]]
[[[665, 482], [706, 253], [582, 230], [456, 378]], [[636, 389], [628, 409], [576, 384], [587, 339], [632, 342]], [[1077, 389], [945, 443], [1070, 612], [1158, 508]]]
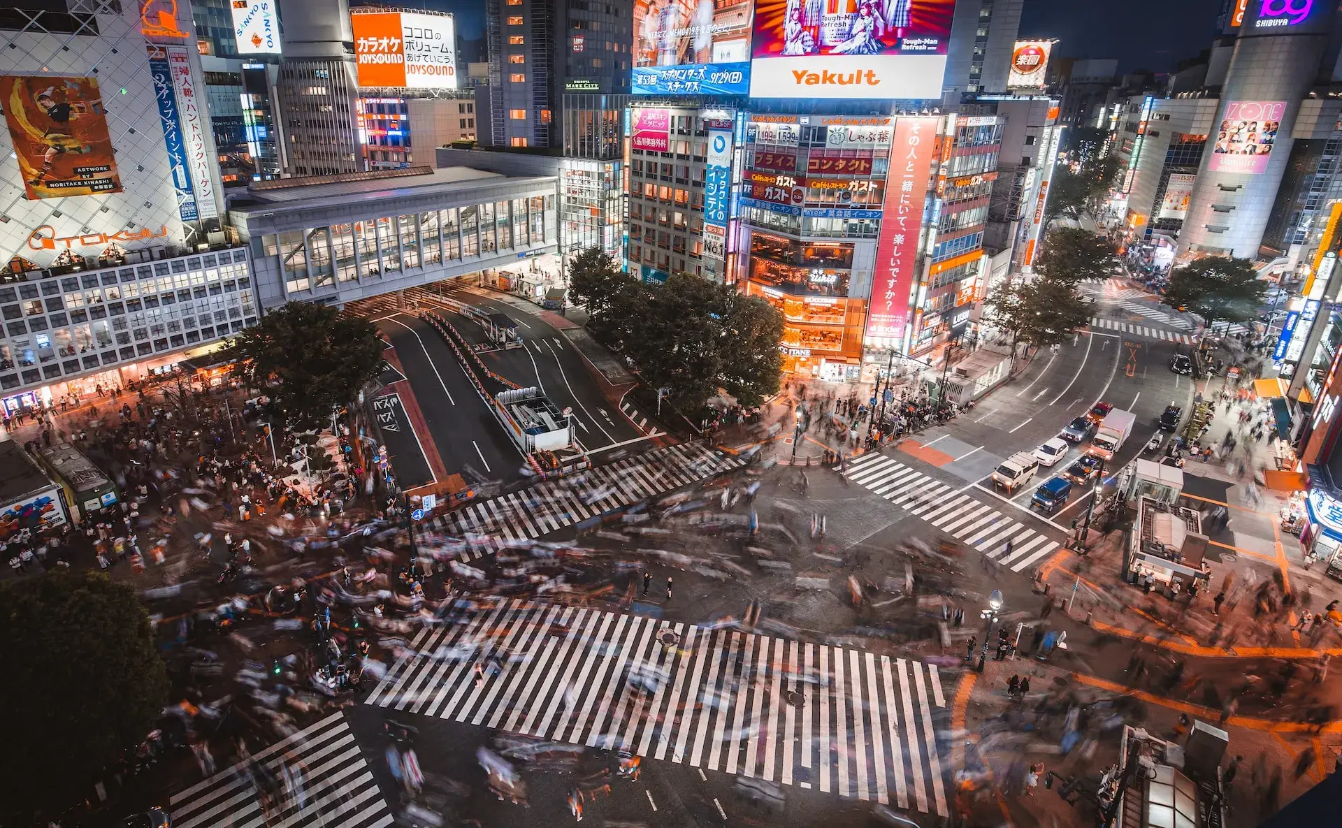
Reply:
[[350, 15], [361, 87], [456, 89], [456, 35], [451, 15]]

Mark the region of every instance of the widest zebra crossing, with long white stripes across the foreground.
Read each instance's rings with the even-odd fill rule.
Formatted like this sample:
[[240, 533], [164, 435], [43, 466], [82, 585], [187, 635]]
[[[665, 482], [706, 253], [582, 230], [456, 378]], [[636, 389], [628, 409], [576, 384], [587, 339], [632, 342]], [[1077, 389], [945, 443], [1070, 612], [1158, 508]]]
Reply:
[[947, 815], [935, 664], [514, 600], [412, 648], [365, 703]]

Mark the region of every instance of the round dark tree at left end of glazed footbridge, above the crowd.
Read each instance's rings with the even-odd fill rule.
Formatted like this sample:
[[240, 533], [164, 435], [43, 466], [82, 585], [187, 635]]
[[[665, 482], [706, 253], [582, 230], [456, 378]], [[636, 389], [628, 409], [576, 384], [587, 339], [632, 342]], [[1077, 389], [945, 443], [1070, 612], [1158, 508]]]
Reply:
[[235, 372], [270, 397], [295, 431], [318, 428], [382, 368], [384, 344], [368, 319], [327, 305], [290, 302], [229, 342]]

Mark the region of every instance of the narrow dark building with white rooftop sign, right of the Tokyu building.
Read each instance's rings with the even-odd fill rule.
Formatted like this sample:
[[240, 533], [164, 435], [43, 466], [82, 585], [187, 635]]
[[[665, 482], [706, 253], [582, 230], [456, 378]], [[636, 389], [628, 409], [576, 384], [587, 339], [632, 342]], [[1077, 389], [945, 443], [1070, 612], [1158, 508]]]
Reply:
[[[224, 187], [278, 178], [285, 169], [275, 114], [279, 21], [274, 0], [196, 0], [196, 44]], [[239, 36], [242, 39], [239, 39]]]

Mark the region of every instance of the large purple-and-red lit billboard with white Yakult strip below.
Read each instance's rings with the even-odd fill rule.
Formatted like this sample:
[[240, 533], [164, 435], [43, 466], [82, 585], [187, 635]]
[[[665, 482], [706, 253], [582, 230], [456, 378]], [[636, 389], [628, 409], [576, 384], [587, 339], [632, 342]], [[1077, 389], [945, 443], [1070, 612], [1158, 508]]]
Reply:
[[753, 98], [941, 98], [954, 0], [758, 0]]

